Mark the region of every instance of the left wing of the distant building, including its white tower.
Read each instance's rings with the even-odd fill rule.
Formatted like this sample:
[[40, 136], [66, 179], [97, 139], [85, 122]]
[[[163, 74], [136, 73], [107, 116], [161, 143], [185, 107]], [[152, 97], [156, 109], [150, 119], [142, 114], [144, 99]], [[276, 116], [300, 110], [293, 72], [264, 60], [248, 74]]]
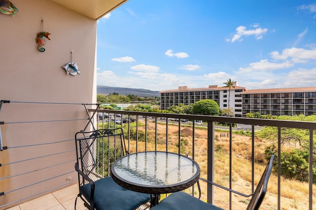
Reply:
[[[193, 104], [202, 99], [212, 99], [216, 101], [220, 109], [233, 109], [235, 117], [242, 116], [242, 95], [241, 92], [247, 90], [239, 87], [237, 82], [234, 88], [219, 87], [218, 85], [208, 86], [207, 88], [190, 89], [187, 86], [179, 87], [177, 90], [164, 90], [160, 92], [160, 109], [167, 109], [172, 105]], [[230, 94], [230, 97], [229, 97]]]

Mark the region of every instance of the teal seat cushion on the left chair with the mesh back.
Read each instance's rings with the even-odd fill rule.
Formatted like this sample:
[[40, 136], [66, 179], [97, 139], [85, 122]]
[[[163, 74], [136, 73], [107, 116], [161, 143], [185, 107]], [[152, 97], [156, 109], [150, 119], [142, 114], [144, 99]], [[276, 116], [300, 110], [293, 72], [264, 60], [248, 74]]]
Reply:
[[[111, 177], [94, 182], [94, 203], [96, 210], [135, 210], [150, 201], [150, 194], [125, 189]], [[84, 198], [90, 202], [90, 184], [80, 186]]]

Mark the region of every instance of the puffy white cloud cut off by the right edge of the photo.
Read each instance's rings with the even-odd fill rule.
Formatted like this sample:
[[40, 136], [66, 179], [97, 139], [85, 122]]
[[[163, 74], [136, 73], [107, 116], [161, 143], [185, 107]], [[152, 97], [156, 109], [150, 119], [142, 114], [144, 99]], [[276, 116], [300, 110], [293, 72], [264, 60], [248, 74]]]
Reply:
[[316, 60], [316, 49], [307, 50], [303, 48], [288, 48], [282, 51], [282, 54], [274, 51], [270, 53], [274, 60], [286, 60], [291, 58], [293, 62], [306, 62], [306, 60]]

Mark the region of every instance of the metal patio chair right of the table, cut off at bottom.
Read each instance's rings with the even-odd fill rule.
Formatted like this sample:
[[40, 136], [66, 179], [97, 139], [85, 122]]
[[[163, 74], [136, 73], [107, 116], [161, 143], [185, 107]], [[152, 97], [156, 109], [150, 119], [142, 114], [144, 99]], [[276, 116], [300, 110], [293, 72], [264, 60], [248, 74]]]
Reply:
[[[274, 159], [274, 155], [271, 156], [270, 161], [267, 164], [265, 171], [263, 172], [263, 175], [258, 183], [256, 190], [250, 195], [239, 193], [235, 190], [223, 187], [221, 185], [218, 185], [216, 183], [213, 183], [211, 181], [208, 181], [202, 178], [200, 178], [200, 180], [207, 181], [210, 184], [226, 189], [233, 193], [237, 193], [238, 195], [241, 195], [244, 197], [252, 196], [248, 204], [247, 210], [258, 210], [267, 192], [267, 185], [268, 185], [268, 180], [272, 171], [273, 159]], [[199, 188], [199, 184], [198, 184], [198, 188]], [[200, 193], [200, 188], [199, 188], [199, 193]], [[151, 208], [151, 210], [222, 210], [222, 209], [212, 204], [205, 203], [199, 200], [198, 198], [189, 195], [188, 193], [175, 192], [169, 195], [168, 197], [166, 197], [165, 199], [163, 199], [160, 203], [158, 203], [156, 207]]]

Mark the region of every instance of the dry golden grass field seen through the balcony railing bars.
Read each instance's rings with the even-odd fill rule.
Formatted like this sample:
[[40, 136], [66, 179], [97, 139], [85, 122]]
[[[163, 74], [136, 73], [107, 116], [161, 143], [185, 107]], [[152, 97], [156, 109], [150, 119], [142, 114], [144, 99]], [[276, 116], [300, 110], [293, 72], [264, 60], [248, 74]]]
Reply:
[[[166, 130], [165, 124], [157, 124], [158, 146], [157, 150], [166, 150]], [[144, 127], [139, 127], [144, 130]], [[155, 144], [151, 139], [155, 138], [155, 123], [148, 122], [148, 150], [155, 150]], [[227, 133], [227, 132], [226, 132]], [[181, 139], [184, 146], [181, 153], [188, 153], [192, 156], [192, 128], [181, 128]], [[168, 151], [178, 152], [178, 125], [168, 126]], [[234, 190], [244, 194], [251, 193], [251, 138], [247, 136], [233, 134], [233, 186]], [[195, 160], [200, 166], [201, 177], [206, 178], [207, 169], [207, 130], [195, 129]], [[255, 180], [259, 181], [262, 172], [266, 166], [264, 150], [269, 142], [264, 139], [255, 139]], [[138, 142], [138, 151], [145, 150], [145, 143]], [[130, 152], [136, 152], [135, 141], [130, 144]], [[215, 132], [215, 182], [229, 187], [229, 138], [220, 137], [220, 132]], [[206, 184], [200, 181], [202, 189], [201, 200], [206, 201]], [[214, 203], [215, 205], [229, 209], [229, 193], [225, 190], [214, 187]], [[192, 188], [187, 189], [192, 192]], [[262, 210], [277, 209], [277, 176], [273, 173], [269, 180], [268, 193], [261, 206]], [[198, 196], [197, 187], [195, 187], [195, 195]], [[234, 210], [244, 210], [249, 203], [250, 198], [232, 194], [232, 202]], [[316, 185], [313, 186], [313, 203], [316, 209]], [[282, 210], [308, 210], [308, 183], [297, 180], [287, 180], [281, 178], [281, 209]]]

